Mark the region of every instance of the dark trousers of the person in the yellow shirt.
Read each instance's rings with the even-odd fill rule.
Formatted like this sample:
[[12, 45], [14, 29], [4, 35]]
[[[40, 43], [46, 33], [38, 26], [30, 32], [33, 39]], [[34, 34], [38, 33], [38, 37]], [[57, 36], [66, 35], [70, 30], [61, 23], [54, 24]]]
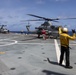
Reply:
[[69, 62], [69, 48], [61, 46], [61, 55], [60, 55], [60, 64], [62, 64], [63, 59], [64, 59], [64, 54], [65, 54], [65, 60], [66, 60], [66, 66], [70, 66]]

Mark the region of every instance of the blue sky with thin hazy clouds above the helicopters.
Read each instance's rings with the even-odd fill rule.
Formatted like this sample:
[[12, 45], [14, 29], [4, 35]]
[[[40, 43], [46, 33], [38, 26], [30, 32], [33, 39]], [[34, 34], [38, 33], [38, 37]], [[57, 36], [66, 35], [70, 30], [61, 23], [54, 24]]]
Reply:
[[[25, 20], [38, 19], [27, 14], [46, 18], [76, 18], [76, 0], [0, 0], [0, 25], [7, 25], [9, 30], [26, 31], [28, 22]], [[35, 30], [43, 22], [30, 22], [30, 30]], [[59, 20], [52, 24], [76, 29], [76, 19]]]

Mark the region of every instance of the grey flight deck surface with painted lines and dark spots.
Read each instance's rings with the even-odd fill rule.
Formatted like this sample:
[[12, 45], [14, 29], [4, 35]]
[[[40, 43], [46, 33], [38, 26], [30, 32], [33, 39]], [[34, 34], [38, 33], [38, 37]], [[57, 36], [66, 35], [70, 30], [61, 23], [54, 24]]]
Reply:
[[58, 65], [55, 39], [0, 34], [0, 75], [76, 75], [76, 41], [70, 41], [70, 46], [73, 69], [66, 69]]

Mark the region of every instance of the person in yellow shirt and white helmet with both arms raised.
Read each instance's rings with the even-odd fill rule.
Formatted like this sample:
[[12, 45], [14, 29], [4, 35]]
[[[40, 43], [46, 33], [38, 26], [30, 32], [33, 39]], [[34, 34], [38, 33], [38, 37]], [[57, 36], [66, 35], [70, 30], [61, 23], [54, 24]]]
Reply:
[[59, 27], [59, 35], [60, 35], [60, 44], [61, 44], [61, 55], [60, 55], [60, 61], [59, 61], [59, 65], [62, 66], [62, 62], [64, 59], [64, 54], [65, 54], [65, 60], [66, 60], [66, 65], [65, 68], [73, 68], [72, 66], [70, 66], [70, 52], [69, 52], [69, 40], [75, 40], [75, 30], [72, 29], [73, 32], [73, 36], [70, 36], [68, 34], [68, 29], [67, 28], [62, 28]]

